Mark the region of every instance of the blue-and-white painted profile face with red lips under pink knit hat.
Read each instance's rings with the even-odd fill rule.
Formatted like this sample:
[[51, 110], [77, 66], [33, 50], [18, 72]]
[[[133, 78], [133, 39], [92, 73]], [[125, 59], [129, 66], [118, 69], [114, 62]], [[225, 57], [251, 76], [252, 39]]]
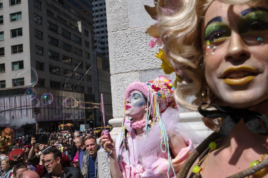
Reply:
[[126, 100], [125, 115], [131, 117], [135, 121], [139, 121], [146, 113], [146, 108], [147, 102], [144, 95], [141, 92], [134, 90]]

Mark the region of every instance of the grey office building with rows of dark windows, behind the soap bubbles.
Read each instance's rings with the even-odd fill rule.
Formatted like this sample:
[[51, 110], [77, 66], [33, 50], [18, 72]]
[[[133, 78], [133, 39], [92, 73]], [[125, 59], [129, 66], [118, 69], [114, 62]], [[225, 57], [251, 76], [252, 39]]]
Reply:
[[44, 129], [68, 121], [100, 124], [96, 109], [62, 106], [68, 96], [99, 102], [92, 10], [91, 2], [85, 0], [0, 1], [0, 101], [9, 100], [0, 110], [25, 104], [23, 97], [12, 97], [24, 96], [26, 89], [21, 87], [30, 85], [32, 76], [16, 79], [17, 84], [14, 76], [29, 67], [38, 74], [33, 87], [36, 97], [40, 100], [43, 93], [54, 96], [51, 105], [40, 104], [38, 115], [23, 108], [14, 110], [15, 114], [2, 112], [2, 124], [24, 116], [36, 117], [39, 128], [41, 123]]

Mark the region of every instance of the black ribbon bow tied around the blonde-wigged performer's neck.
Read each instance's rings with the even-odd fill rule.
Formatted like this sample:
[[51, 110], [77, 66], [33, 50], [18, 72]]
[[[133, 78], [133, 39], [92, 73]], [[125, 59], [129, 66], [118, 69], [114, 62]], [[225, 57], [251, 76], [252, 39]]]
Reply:
[[[203, 110], [202, 105], [210, 105], [217, 110]], [[228, 137], [233, 127], [241, 120], [252, 133], [268, 134], [268, 120], [265, 115], [248, 109], [235, 109], [228, 106], [218, 106], [214, 104], [202, 103], [198, 107], [199, 113], [207, 118], [224, 117], [219, 133]]]

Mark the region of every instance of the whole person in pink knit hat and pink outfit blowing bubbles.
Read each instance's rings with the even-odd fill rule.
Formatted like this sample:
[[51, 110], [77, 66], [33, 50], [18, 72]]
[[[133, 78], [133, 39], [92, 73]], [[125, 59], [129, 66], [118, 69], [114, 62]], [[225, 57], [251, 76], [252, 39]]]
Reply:
[[189, 126], [178, 124], [175, 107], [174, 85], [164, 76], [127, 87], [121, 134], [116, 143], [110, 135], [100, 138], [109, 153], [111, 177], [176, 177], [194, 150], [192, 140], [201, 140]]

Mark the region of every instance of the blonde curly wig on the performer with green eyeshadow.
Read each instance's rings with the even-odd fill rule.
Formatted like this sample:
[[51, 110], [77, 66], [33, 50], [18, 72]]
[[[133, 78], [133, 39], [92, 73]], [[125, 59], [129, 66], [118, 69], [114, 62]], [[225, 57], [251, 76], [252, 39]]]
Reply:
[[[179, 1], [180, 9], [170, 16], [161, 13], [162, 0], [158, 0], [156, 5], [159, 34], [165, 45], [163, 50], [168, 61], [175, 70], [180, 69], [192, 81], [189, 84], [177, 85], [175, 99], [178, 105], [191, 110], [197, 110], [201, 104], [200, 90], [205, 83], [201, 27], [204, 14], [213, 1], [181, 0]], [[262, 1], [265, 0], [221, 0], [221, 2], [233, 5], [246, 3], [254, 5]], [[193, 103], [188, 103], [185, 98], [191, 95], [195, 95], [197, 99]], [[218, 104], [219, 100], [212, 93], [208, 102]], [[204, 118], [203, 121], [210, 129], [218, 131], [222, 118], [214, 120]]]

